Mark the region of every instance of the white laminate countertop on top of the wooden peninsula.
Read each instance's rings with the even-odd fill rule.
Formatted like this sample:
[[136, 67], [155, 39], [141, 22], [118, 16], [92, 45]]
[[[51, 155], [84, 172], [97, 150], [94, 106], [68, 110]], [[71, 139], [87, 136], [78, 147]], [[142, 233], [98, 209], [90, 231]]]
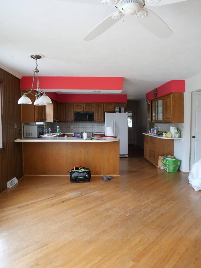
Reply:
[[106, 137], [94, 137], [93, 140], [87, 139], [80, 139], [77, 137], [41, 137], [41, 138], [24, 138], [15, 140], [15, 142], [117, 142], [119, 139], [117, 138], [106, 138]]

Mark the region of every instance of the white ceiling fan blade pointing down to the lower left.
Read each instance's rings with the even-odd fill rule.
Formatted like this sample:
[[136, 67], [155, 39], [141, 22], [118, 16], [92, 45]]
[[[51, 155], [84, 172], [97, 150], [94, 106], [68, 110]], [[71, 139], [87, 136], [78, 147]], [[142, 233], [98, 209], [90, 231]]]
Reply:
[[101, 35], [101, 33], [105, 32], [107, 29], [109, 29], [112, 25], [114, 25], [120, 18], [113, 19], [112, 17], [117, 12], [112, 13], [110, 16], [105, 18], [103, 21], [101, 21], [94, 29], [92, 29], [84, 38], [84, 41], [90, 41], [95, 39], [97, 36]]

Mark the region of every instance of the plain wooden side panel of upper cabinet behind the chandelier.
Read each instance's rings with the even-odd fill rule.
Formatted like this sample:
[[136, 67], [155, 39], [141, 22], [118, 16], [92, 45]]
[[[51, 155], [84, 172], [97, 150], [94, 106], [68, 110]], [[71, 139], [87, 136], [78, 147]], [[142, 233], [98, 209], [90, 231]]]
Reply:
[[[21, 96], [26, 93], [26, 90], [21, 90]], [[21, 105], [21, 116], [22, 116], [22, 122], [23, 123], [29, 123], [29, 122], [34, 122], [35, 117], [34, 117], [34, 110], [35, 106], [33, 105], [35, 101], [35, 97], [32, 94], [27, 94], [27, 97], [31, 99], [32, 104], [22, 104]]]

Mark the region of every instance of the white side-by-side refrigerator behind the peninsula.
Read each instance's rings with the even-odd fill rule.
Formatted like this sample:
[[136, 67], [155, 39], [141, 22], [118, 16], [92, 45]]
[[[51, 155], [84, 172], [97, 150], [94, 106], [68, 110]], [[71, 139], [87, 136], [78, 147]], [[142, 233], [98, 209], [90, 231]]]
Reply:
[[[128, 157], [128, 113], [105, 113], [105, 135], [120, 139], [120, 157]], [[110, 131], [110, 133], [107, 133]]]

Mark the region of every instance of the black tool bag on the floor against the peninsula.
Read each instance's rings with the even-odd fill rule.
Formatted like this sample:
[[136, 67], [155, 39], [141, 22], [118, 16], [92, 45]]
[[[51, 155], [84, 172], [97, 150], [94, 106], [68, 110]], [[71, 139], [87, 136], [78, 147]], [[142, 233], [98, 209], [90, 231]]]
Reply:
[[70, 170], [71, 183], [87, 183], [91, 180], [91, 170], [84, 167], [76, 167]]

